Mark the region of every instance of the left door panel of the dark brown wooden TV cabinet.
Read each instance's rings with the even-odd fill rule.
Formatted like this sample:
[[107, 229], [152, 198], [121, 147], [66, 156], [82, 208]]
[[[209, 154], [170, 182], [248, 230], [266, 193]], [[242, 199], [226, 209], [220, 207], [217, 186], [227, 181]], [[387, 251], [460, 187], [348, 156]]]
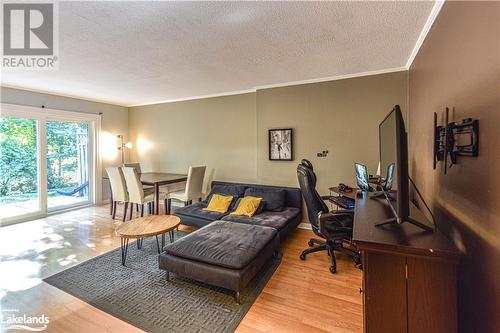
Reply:
[[405, 266], [403, 256], [363, 253], [365, 332], [407, 332]]

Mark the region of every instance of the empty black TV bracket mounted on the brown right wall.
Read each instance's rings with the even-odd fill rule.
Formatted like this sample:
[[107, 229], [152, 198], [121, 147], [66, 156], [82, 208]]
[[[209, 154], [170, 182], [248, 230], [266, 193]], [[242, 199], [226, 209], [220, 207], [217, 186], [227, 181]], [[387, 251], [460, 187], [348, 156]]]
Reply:
[[[476, 157], [479, 153], [479, 120], [466, 118], [461, 122], [448, 122], [449, 108], [445, 111], [445, 124], [438, 126], [437, 113], [434, 112], [434, 169], [437, 162], [444, 161], [444, 173], [458, 156]], [[450, 164], [448, 166], [448, 159]]]

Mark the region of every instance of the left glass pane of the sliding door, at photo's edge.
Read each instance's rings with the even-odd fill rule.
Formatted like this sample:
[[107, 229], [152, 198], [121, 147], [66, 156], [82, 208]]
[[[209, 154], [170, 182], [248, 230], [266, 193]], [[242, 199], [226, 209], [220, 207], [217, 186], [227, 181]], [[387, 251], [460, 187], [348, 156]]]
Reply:
[[0, 118], [0, 218], [41, 210], [38, 121]]

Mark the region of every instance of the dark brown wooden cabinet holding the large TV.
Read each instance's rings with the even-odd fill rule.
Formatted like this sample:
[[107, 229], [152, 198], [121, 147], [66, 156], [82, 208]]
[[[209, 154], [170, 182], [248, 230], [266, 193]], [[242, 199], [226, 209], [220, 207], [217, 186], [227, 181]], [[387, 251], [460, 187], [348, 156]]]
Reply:
[[[383, 199], [356, 198], [353, 241], [363, 263], [364, 332], [457, 332], [459, 251], [439, 230], [376, 226], [391, 214]], [[414, 205], [411, 215], [425, 221]]]

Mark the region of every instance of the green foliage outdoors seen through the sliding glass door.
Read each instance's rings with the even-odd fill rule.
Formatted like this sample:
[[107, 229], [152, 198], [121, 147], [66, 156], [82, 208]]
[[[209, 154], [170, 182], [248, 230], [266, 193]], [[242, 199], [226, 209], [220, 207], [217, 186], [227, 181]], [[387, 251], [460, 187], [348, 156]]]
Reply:
[[[50, 190], [78, 186], [77, 131], [87, 124], [48, 121], [47, 186]], [[19, 118], [0, 119], [0, 197], [29, 197], [37, 192], [37, 123]], [[5, 200], [2, 200], [5, 201]]]

